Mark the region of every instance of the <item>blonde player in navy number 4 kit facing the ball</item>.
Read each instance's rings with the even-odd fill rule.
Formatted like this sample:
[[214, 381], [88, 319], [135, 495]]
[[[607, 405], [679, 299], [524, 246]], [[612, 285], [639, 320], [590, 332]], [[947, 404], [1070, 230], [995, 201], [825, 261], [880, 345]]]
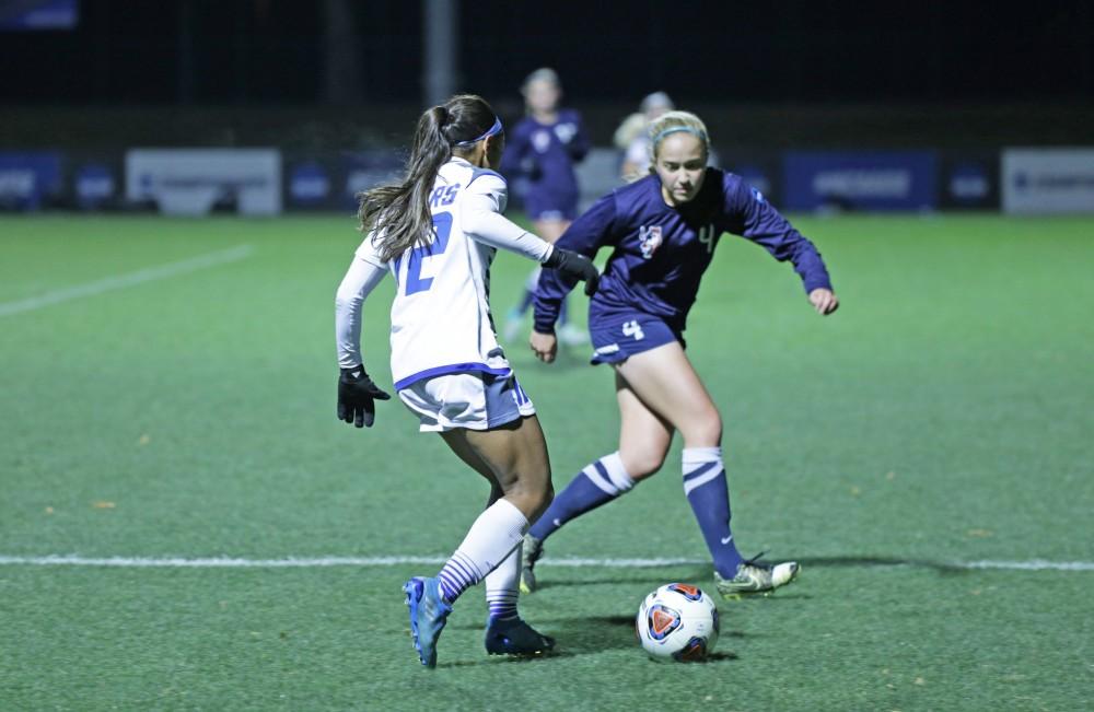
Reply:
[[[839, 306], [819, 253], [740, 176], [707, 167], [702, 121], [668, 112], [650, 126], [650, 175], [598, 200], [558, 246], [594, 257], [610, 246], [600, 290], [589, 307], [593, 363], [615, 370], [619, 450], [583, 469], [556, 495], [524, 540], [522, 590], [535, 590], [543, 541], [570, 520], [609, 502], [664, 464], [673, 433], [684, 437], [684, 493], [714, 563], [722, 596], [767, 592], [798, 575], [799, 565], [744, 559], [730, 529], [722, 464], [722, 419], [684, 351], [688, 311], [720, 235], [742, 235], [776, 259], [790, 260], [818, 314]], [[544, 270], [535, 297], [532, 350], [555, 359], [562, 297], [574, 280]]]

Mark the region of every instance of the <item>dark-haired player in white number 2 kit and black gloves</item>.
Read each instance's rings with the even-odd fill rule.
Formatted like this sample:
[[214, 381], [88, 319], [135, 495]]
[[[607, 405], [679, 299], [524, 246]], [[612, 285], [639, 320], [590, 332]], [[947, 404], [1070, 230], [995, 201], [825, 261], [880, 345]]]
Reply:
[[338, 418], [372, 425], [374, 400], [389, 396], [364, 371], [361, 305], [388, 271], [392, 378], [422, 432], [490, 482], [487, 509], [435, 577], [404, 586], [419, 660], [437, 665], [437, 639], [452, 604], [486, 580], [491, 654], [528, 655], [555, 641], [516, 611], [521, 541], [554, 491], [532, 400], [498, 346], [488, 301], [490, 262], [502, 247], [596, 289], [589, 258], [554, 247], [500, 213], [505, 180], [490, 168], [504, 148], [501, 121], [484, 100], [459, 95], [418, 120], [406, 177], [360, 196], [364, 242], [338, 288]]

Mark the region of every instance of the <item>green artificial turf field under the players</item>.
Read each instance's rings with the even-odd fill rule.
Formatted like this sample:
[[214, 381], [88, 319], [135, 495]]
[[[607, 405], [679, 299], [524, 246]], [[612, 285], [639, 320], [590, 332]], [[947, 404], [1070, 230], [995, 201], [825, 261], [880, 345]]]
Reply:
[[[371, 431], [335, 419], [352, 219], [0, 219], [0, 710], [1090, 709], [1094, 220], [798, 224], [839, 313], [726, 238], [687, 337], [726, 424], [734, 534], [802, 561], [799, 583], [720, 603], [707, 664], [643, 656], [643, 595], [711, 584], [677, 451], [548, 542], [522, 608], [558, 655], [487, 657], [473, 590], [430, 672], [400, 585], [435, 573], [487, 489], [397, 402]], [[496, 313], [526, 270], [499, 257]], [[364, 328], [385, 386], [389, 284]], [[561, 489], [615, 448], [610, 373], [510, 357]], [[369, 565], [315, 565], [347, 557]], [[653, 558], [694, 563], [617, 565]]]

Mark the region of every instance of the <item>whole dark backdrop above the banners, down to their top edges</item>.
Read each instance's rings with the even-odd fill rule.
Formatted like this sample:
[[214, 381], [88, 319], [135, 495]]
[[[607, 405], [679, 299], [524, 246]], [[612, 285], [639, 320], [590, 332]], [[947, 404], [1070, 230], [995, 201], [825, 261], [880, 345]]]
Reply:
[[[513, 120], [554, 67], [602, 145], [655, 90], [736, 152], [1089, 144], [1092, 5], [461, 0], [455, 89]], [[424, 103], [421, 0], [79, 10], [72, 31], [0, 32], [0, 145], [380, 148]]]

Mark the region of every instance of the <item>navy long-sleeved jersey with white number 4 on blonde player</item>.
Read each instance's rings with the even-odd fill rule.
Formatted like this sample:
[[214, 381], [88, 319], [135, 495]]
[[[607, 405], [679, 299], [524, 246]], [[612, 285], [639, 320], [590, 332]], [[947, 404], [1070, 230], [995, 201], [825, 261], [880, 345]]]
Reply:
[[[763, 245], [776, 259], [790, 260], [806, 293], [831, 289], [813, 243], [738, 175], [707, 168], [699, 194], [678, 208], [665, 205], [661, 180], [647, 176], [597, 200], [559, 238], [558, 246], [595, 257], [613, 247], [590, 307], [597, 315], [639, 312], [683, 332], [699, 281], [723, 233]], [[555, 328], [562, 299], [575, 282], [545, 269], [535, 296], [535, 328]]]

